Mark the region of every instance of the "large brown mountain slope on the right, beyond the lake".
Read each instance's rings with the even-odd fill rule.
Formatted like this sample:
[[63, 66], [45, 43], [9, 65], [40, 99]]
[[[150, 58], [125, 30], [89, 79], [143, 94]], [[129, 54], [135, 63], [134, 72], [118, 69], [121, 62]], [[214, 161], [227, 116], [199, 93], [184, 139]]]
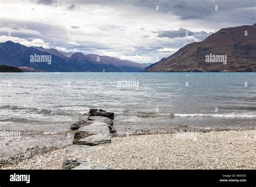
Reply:
[[222, 28], [201, 42], [180, 48], [144, 71], [255, 72], [256, 24]]

